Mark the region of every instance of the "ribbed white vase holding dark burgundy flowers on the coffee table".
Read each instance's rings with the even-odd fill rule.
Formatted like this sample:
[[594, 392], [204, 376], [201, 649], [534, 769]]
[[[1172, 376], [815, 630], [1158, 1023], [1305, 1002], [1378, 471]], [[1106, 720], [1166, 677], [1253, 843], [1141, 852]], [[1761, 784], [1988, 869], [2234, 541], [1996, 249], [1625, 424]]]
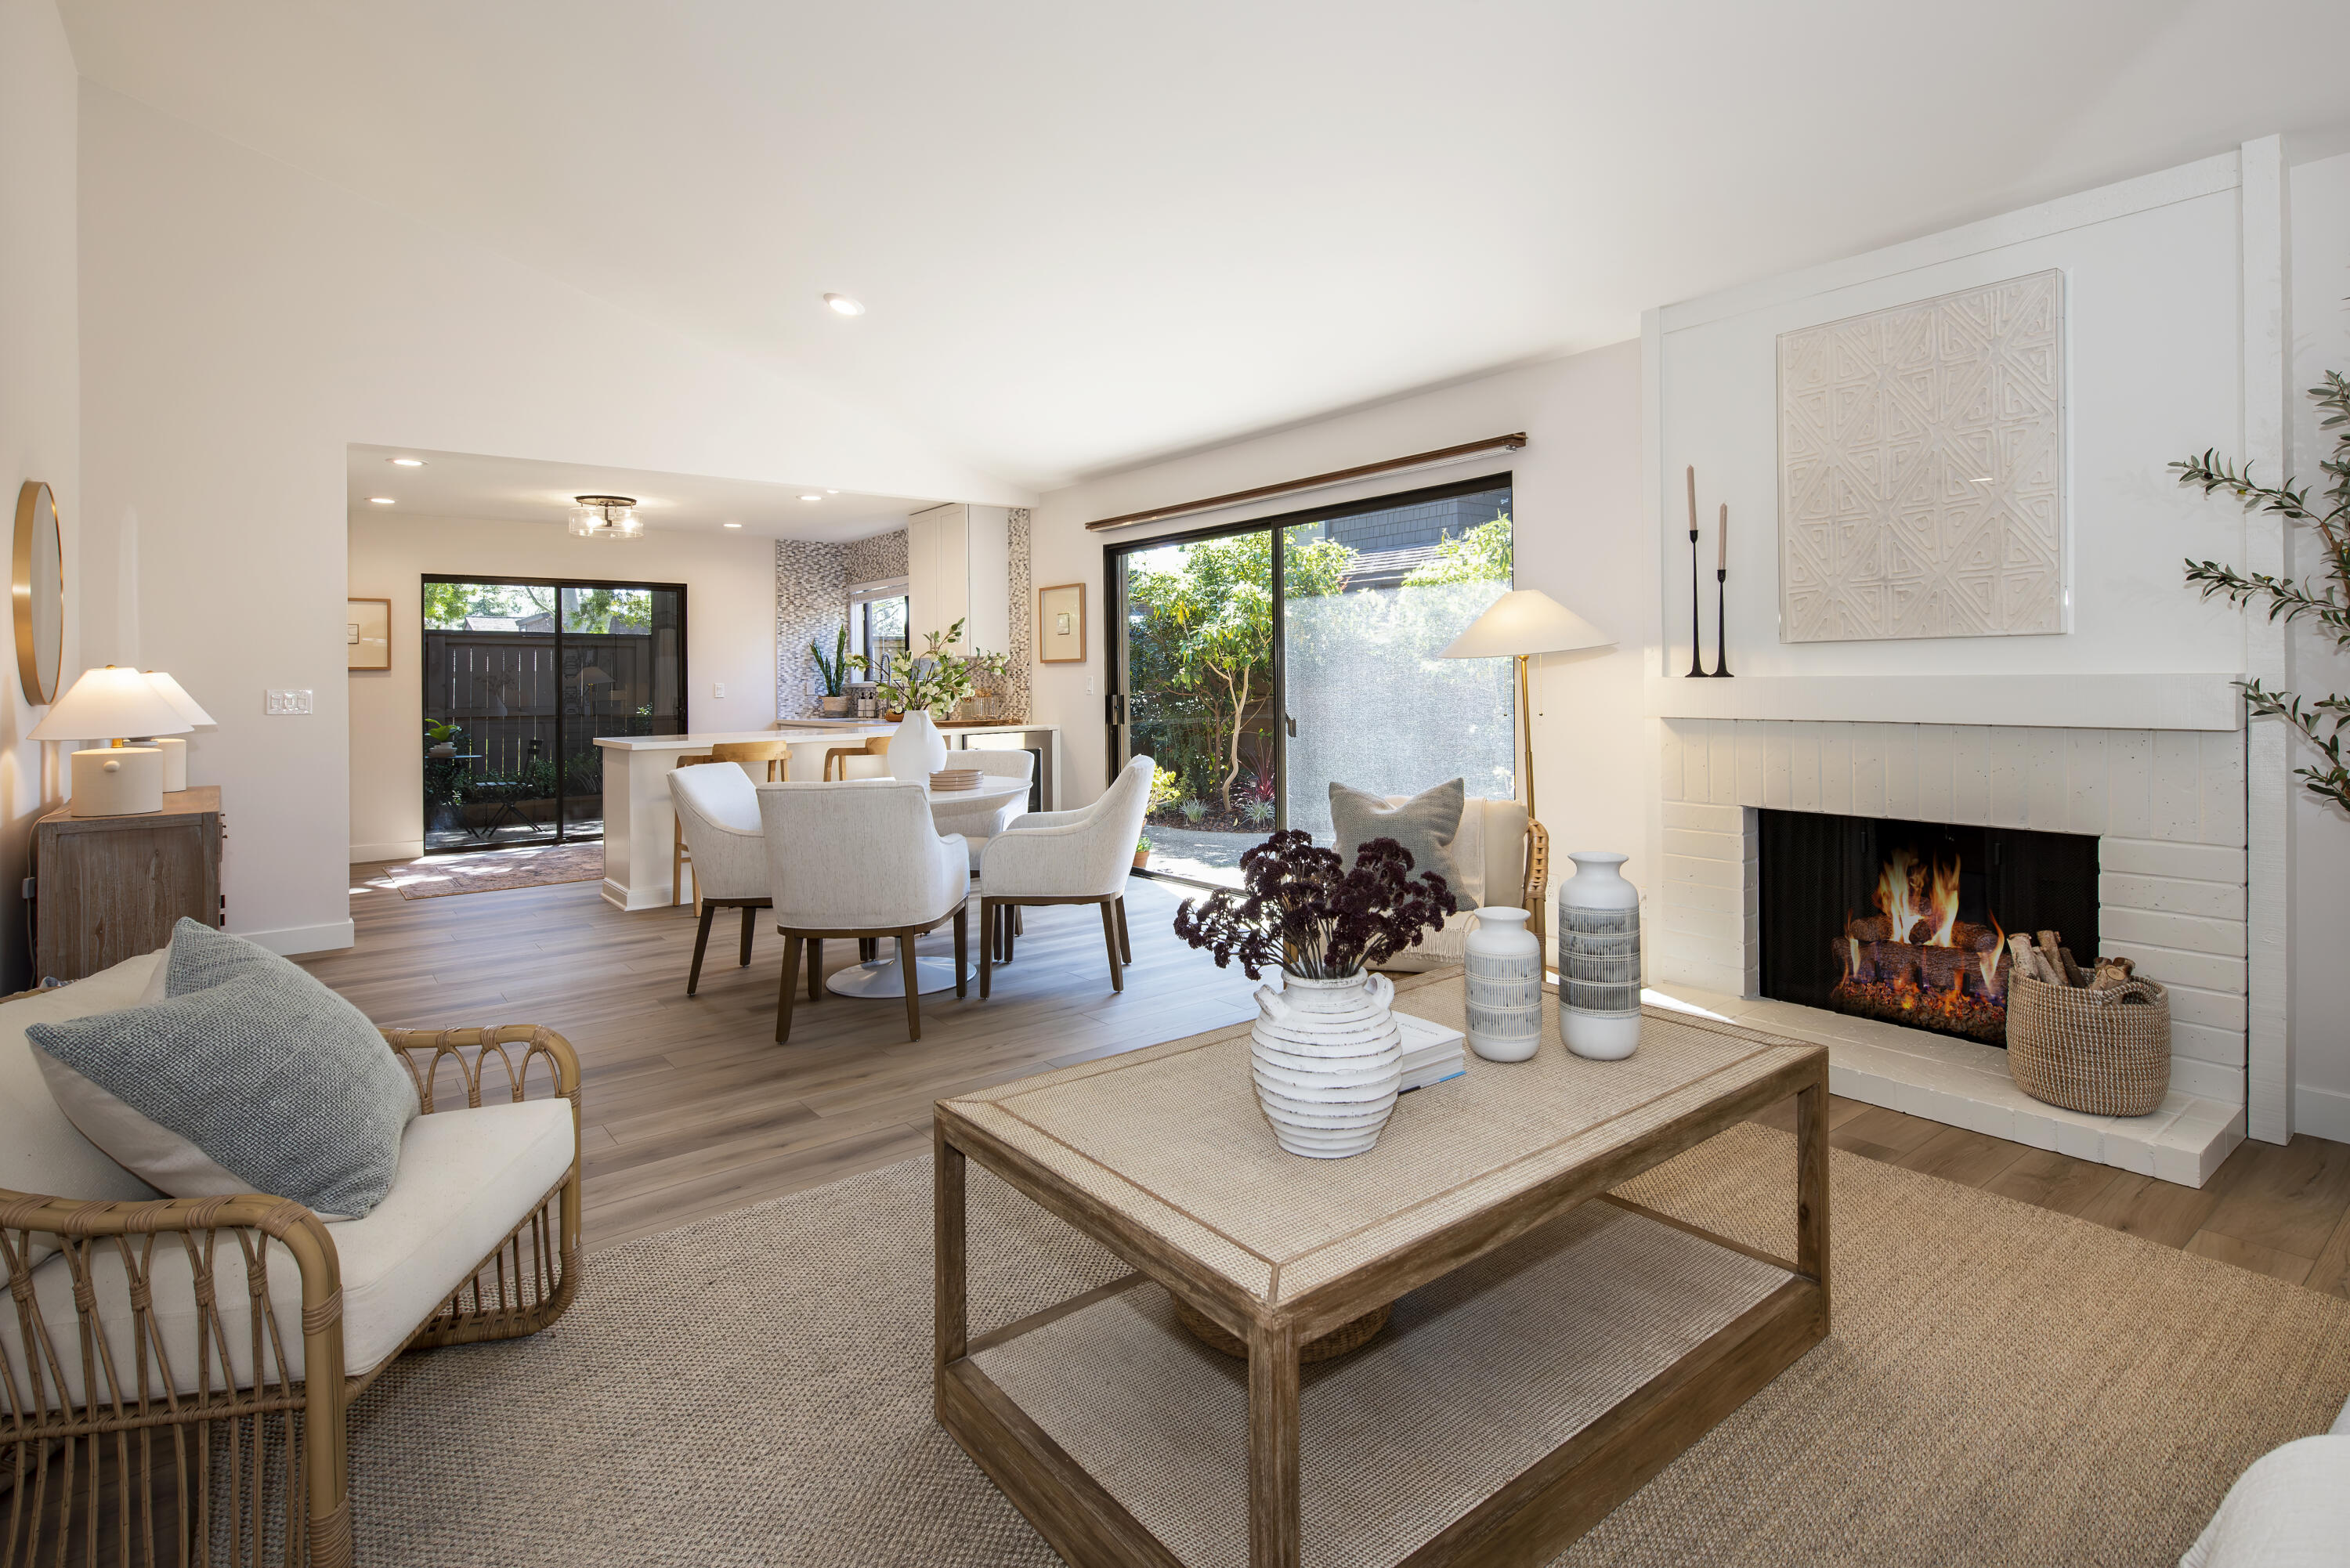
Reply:
[[1403, 1032], [1386, 976], [1257, 987], [1250, 1077], [1274, 1140], [1307, 1159], [1344, 1159], [1379, 1143], [1403, 1086]]

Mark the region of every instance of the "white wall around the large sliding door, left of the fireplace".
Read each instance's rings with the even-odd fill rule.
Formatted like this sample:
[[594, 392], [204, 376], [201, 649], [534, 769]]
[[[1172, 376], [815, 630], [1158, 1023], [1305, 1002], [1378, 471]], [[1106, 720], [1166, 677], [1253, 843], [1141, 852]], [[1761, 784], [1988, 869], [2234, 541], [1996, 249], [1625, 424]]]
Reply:
[[[1086, 522], [1149, 505], [1194, 501], [1356, 463], [1434, 451], [1525, 430], [1523, 451], [1459, 468], [1396, 475], [1255, 508], [1173, 524], [1088, 534]], [[1102, 738], [1102, 548], [1114, 541], [1184, 531], [1210, 522], [1269, 517], [1300, 505], [1377, 496], [1509, 470], [1518, 588], [1539, 588], [1593, 625], [1614, 632], [1617, 651], [1560, 654], [1535, 672], [1537, 806], [1556, 851], [1622, 849], [1643, 875], [1654, 729], [1640, 719], [1640, 639], [1647, 621], [1640, 585], [1640, 346], [1551, 360], [1342, 418], [1154, 463], [1050, 491], [1034, 510], [1036, 588], [1086, 585], [1086, 665], [1036, 665], [1036, 717], [1067, 738], [1067, 790], [1093, 799], [1104, 785]], [[1379, 693], [1363, 693], [1377, 724]], [[1434, 783], [1434, 780], [1431, 780]]]

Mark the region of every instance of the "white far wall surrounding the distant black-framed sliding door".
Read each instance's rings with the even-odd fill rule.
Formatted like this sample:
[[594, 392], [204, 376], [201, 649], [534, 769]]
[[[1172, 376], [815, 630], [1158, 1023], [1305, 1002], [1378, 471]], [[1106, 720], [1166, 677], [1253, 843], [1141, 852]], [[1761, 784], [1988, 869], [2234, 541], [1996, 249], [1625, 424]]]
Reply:
[[[423, 576], [637, 578], [686, 585], [686, 722], [766, 729], [776, 717], [776, 541], [646, 529], [632, 543], [562, 524], [350, 515], [350, 592], [392, 602], [392, 668], [345, 675], [350, 860], [423, 853]], [[714, 689], [726, 686], [726, 696]]]

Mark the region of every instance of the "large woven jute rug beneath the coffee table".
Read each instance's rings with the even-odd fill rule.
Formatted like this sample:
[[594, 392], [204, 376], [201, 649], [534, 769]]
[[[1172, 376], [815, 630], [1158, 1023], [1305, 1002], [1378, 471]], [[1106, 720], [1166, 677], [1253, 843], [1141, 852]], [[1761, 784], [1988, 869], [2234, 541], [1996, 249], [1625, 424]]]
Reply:
[[[1739, 1126], [1624, 1192], [1784, 1246], [1791, 1166]], [[971, 1182], [975, 1331], [1126, 1272]], [[2350, 1394], [2350, 1302], [1842, 1152], [1831, 1182], [1831, 1338], [1560, 1563], [2171, 1563]], [[1058, 1561], [931, 1420], [926, 1157], [597, 1253], [536, 1340], [404, 1356], [350, 1486], [371, 1566]]]

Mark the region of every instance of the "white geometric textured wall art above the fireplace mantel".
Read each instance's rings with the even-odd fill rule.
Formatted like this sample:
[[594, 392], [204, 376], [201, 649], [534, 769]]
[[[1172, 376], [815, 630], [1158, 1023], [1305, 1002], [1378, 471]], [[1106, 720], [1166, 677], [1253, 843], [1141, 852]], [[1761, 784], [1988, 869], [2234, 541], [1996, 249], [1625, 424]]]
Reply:
[[1779, 639], [2063, 628], [2063, 273], [1779, 336]]

